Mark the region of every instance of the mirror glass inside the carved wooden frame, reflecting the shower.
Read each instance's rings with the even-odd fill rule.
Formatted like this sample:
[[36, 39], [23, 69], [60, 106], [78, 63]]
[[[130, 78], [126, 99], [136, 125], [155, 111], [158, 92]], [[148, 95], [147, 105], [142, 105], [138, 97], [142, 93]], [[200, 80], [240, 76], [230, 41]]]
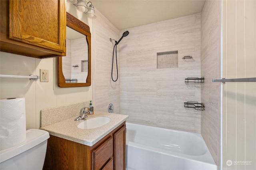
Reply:
[[66, 83], [85, 83], [88, 75], [88, 45], [86, 36], [66, 27], [66, 57], [62, 57], [62, 72]]

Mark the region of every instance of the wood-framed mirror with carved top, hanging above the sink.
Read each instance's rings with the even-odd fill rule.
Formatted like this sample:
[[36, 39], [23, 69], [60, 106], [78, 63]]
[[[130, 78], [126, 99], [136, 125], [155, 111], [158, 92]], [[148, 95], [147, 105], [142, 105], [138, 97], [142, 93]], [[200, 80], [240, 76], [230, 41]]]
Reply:
[[66, 56], [58, 57], [58, 86], [63, 88], [90, 85], [90, 27], [67, 12]]

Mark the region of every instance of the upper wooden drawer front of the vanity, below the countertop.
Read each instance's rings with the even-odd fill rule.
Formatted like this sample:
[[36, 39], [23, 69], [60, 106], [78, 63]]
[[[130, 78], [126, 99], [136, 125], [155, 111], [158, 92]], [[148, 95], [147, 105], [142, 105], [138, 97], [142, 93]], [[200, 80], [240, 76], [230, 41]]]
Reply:
[[92, 169], [100, 170], [113, 157], [113, 136], [92, 151]]

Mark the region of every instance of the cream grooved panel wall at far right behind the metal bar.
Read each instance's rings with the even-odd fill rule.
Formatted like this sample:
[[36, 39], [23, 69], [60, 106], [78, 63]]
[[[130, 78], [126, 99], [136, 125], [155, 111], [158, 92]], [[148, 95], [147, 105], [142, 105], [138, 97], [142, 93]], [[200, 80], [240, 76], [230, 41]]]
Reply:
[[[223, 0], [222, 9], [222, 77], [256, 77], [256, 1]], [[255, 170], [256, 83], [226, 82], [222, 95], [222, 168]]]

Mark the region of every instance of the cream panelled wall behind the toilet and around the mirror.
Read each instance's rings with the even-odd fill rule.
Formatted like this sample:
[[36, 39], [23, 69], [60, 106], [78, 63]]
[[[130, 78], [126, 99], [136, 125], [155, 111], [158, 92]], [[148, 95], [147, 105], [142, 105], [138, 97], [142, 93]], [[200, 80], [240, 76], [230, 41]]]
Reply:
[[[67, 11], [92, 27], [86, 16], [67, 3]], [[49, 70], [49, 82], [36, 82], [21, 78], [0, 78], [0, 98], [25, 97], [26, 128], [40, 127], [40, 111], [92, 99], [92, 86], [59, 88], [57, 86], [57, 60], [35, 59], [11, 53], [0, 53], [0, 74], [40, 75], [40, 69]]]

